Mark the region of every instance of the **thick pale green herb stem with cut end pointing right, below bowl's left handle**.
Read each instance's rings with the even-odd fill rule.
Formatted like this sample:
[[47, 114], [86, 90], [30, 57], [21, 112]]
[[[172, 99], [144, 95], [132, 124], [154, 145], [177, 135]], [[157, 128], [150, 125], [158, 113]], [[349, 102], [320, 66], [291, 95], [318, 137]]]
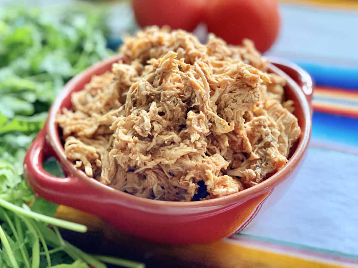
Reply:
[[73, 223], [73, 222], [68, 222], [66, 220], [61, 220], [61, 219], [56, 219], [53, 217], [49, 217], [43, 214], [39, 214], [33, 211], [28, 211], [25, 210], [23, 208], [20, 208], [17, 205], [11, 204], [10, 202], [4, 200], [4, 199], [0, 199], [0, 206], [4, 207], [14, 213], [18, 213], [19, 215], [23, 215], [32, 219], [37, 219], [37, 220], [41, 220], [47, 224], [52, 224], [58, 227], [62, 227], [68, 230], [72, 230], [72, 231], [76, 231], [76, 232], [81, 232], [81, 233], [85, 233], [87, 231], [87, 227], [82, 225], [82, 224], [78, 224], [78, 223]]

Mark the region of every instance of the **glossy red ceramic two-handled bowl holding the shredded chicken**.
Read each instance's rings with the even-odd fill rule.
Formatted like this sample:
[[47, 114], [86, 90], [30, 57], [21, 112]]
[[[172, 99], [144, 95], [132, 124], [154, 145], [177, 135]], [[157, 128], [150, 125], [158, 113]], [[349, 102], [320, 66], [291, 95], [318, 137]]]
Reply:
[[[295, 102], [295, 115], [302, 133], [289, 162], [264, 182], [216, 199], [170, 202], [140, 198], [110, 188], [74, 167], [64, 153], [55, 116], [62, 108], [71, 108], [71, 93], [82, 90], [93, 75], [110, 70], [120, 58], [116, 55], [103, 60], [77, 75], [52, 105], [46, 124], [24, 160], [25, 177], [36, 193], [51, 202], [97, 215], [137, 237], [160, 243], [188, 244], [211, 242], [239, 232], [260, 211], [263, 202], [270, 200], [266, 202], [270, 205], [285, 192], [308, 147], [313, 83], [304, 70], [277, 59], [271, 59], [270, 71], [287, 79], [286, 96]], [[51, 156], [57, 158], [66, 178], [44, 171], [42, 163]]]

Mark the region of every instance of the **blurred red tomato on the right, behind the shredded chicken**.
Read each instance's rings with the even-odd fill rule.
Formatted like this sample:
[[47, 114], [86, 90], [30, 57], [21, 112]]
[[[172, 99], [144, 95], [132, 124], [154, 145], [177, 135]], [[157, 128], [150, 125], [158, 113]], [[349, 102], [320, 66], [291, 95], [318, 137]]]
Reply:
[[240, 45], [242, 39], [255, 42], [264, 52], [274, 43], [280, 28], [279, 6], [275, 0], [208, 1], [205, 22], [208, 31], [228, 44]]

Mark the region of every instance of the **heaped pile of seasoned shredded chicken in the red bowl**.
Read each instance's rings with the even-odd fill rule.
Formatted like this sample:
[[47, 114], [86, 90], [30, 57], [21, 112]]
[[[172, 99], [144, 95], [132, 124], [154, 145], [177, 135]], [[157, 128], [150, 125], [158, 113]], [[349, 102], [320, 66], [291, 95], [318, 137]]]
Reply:
[[88, 177], [190, 201], [244, 190], [287, 163], [300, 135], [294, 104], [251, 41], [228, 46], [210, 35], [203, 45], [151, 27], [121, 53], [57, 116], [67, 158]]

